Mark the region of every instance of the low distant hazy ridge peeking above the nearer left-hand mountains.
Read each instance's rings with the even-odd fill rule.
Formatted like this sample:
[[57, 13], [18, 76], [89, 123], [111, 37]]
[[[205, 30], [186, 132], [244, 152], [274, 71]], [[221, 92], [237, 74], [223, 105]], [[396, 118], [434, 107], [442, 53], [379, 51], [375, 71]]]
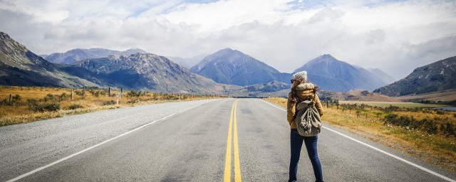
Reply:
[[90, 58], [105, 58], [108, 55], [130, 55], [134, 53], [146, 53], [145, 50], [141, 50], [139, 48], [135, 49], [128, 49], [125, 51], [118, 51], [118, 50], [109, 50], [104, 48], [89, 48], [89, 49], [81, 49], [76, 48], [73, 50], [68, 50], [65, 53], [52, 53], [43, 58], [50, 61], [51, 63], [58, 63], [64, 65], [71, 65], [78, 60], [90, 59]]

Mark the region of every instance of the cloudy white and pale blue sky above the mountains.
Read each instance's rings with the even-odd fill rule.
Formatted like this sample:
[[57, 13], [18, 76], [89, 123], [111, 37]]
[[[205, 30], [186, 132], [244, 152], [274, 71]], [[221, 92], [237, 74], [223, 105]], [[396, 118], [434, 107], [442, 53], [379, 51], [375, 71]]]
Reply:
[[456, 1], [0, 0], [0, 31], [37, 54], [232, 48], [286, 73], [331, 54], [400, 79], [456, 55]]

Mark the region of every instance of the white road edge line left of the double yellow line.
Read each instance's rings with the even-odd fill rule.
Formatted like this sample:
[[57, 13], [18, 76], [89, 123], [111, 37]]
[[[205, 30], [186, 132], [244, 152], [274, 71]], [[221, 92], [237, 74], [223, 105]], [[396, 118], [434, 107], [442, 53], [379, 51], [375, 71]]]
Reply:
[[[212, 101], [213, 101], [213, 100], [210, 100], [209, 102], [212, 102]], [[205, 102], [205, 103], [208, 103], [208, 102]], [[90, 146], [90, 147], [87, 148], [87, 149], [83, 149], [82, 151], [78, 151], [78, 152], [76, 152], [75, 154], [71, 154], [70, 156], [66, 156], [66, 157], [64, 157], [64, 158], [62, 158], [62, 159], [59, 159], [59, 160], [57, 160], [57, 161], [54, 161], [53, 163], [48, 164], [48, 165], [46, 165], [46, 166], [42, 166], [42, 167], [40, 167], [40, 168], [36, 168], [36, 169], [33, 170], [33, 171], [30, 171], [30, 172], [28, 172], [28, 173], [24, 173], [24, 174], [22, 174], [21, 176], [17, 176], [16, 178], [12, 178], [12, 179], [10, 179], [9, 181], [6, 181], [6, 182], [18, 181], [18, 180], [21, 179], [21, 178], [25, 178], [26, 176], [29, 176], [29, 175], [31, 175], [31, 174], [33, 174], [33, 173], [36, 173], [36, 172], [41, 171], [41, 170], [43, 170], [43, 169], [45, 169], [45, 168], [51, 167], [51, 166], [53, 166], [53, 165], [56, 165], [56, 164], [60, 163], [61, 161], [65, 161], [66, 159], [70, 159], [70, 158], [72, 158], [73, 156], [77, 156], [77, 155], [82, 154], [82, 153], [84, 153], [84, 152], [86, 152], [86, 151], [89, 151], [90, 149], [93, 149], [93, 148], [95, 148], [95, 147], [97, 147], [97, 146], [106, 144], [106, 143], [108, 143], [109, 141], [113, 141], [113, 140], [115, 140], [115, 139], [118, 139], [118, 138], [120, 138], [120, 137], [123, 137], [123, 136], [126, 135], [126, 134], [130, 134], [130, 133], [132, 133], [132, 132], [135, 132], [135, 131], [137, 131], [138, 129], [142, 129], [143, 127], [147, 127], [147, 126], [149, 126], [150, 124], [154, 124], [155, 122], [160, 122], [160, 121], [162, 121], [162, 120], [164, 120], [164, 119], [167, 119], [168, 117], [174, 116], [175, 114], [179, 114], [179, 113], [181, 113], [181, 112], [185, 112], [185, 111], [187, 111], [187, 110], [189, 110], [189, 109], [193, 109], [193, 108], [198, 107], [198, 106], [200, 106], [200, 105], [203, 105], [203, 104], [205, 104], [205, 103], [202, 103], [202, 104], [199, 104], [199, 105], [195, 105], [194, 107], [189, 107], [189, 108], [187, 108], [187, 109], [183, 109], [183, 110], [181, 110], [181, 111], [179, 111], [179, 112], [175, 112], [175, 113], [169, 114], [169, 115], [167, 115], [167, 116], [165, 116], [165, 117], [162, 117], [162, 118], [160, 118], [160, 119], [157, 119], [157, 120], [155, 120], [155, 121], [153, 121], [153, 122], [149, 122], [149, 123], [147, 123], [147, 124], [143, 124], [142, 126], [137, 127], [137, 128], [135, 128], [135, 129], [132, 129], [132, 130], [130, 130], [130, 131], [128, 131], [128, 132], [125, 132], [125, 133], [123, 133], [123, 134], [120, 134], [120, 135], [118, 135], [117, 137], [114, 137], [114, 138], [111, 138], [111, 139], [107, 139], [107, 140], [105, 140], [105, 141], [102, 141], [102, 142], [99, 143], [99, 144], [95, 144], [94, 146]]]

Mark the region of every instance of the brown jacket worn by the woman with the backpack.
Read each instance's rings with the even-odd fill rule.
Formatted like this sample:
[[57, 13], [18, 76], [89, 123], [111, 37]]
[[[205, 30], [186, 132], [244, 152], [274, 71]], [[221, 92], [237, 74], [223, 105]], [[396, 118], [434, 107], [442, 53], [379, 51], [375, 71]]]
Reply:
[[[301, 100], [305, 100], [307, 97], [314, 99], [315, 107], [320, 113], [320, 117], [323, 116], [323, 106], [321, 105], [318, 95], [314, 94], [315, 86], [311, 83], [301, 83], [296, 87], [296, 96]], [[288, 120], [291, 129], [296, 129], [296, 123], [294, 122], [295, 105], [296, 103], [291, 102], [291, 92], [288, 94], [288, 101], [286, 102], [286, 120]]]

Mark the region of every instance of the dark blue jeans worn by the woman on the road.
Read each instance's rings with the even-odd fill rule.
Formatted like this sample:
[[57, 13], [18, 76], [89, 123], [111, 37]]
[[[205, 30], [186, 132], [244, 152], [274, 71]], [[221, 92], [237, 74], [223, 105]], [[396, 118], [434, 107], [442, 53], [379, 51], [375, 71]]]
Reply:
[[318, 154], [316, 151], [316, 142], [318, 141], [318, 136], [302, 137], [301, 135], [299, 135], [296, 129], [291, 129], [290, 136], [291, 158], [289, 181], [296, 181], [296, 173], [298, 172], [298, 162], [299, 156], [301, 155], [302, 141], [304, 141], [304, 144], [306, 144], [307, 154], [309, 154], [312, 166], [314, 167], [316, 181], [323, 181], [320, 159], [318, 159]]

